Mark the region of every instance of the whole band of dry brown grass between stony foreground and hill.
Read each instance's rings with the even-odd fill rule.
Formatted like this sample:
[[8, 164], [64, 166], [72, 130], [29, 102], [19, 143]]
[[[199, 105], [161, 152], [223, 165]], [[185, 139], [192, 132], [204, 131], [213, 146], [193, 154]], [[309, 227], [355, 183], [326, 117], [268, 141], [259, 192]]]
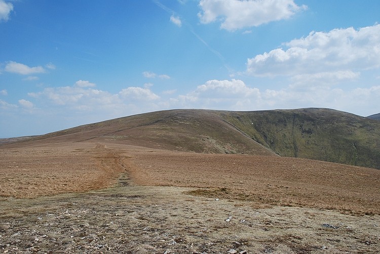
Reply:
[[97, 143], [0, 149], [0, 196], [102, 189], [127, 171], [136, 185], [200, 188], [193, 194], [265, 205], [380, 214], [380, 171], [276, 156], [199, 154]]

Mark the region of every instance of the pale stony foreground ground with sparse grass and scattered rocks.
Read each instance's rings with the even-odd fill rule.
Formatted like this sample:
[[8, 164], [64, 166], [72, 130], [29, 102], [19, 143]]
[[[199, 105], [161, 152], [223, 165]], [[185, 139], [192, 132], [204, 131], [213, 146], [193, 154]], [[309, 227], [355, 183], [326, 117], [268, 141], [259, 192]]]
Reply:
[[380, 217], [131, 186], [2, 198], [1, 253], [378, 253]]

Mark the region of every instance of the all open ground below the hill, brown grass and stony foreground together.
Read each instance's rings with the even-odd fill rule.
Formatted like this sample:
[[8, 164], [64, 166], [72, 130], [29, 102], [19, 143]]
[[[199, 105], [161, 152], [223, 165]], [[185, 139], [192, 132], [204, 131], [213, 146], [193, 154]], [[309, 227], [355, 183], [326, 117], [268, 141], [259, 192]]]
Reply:
[[91, 142], [0, 157], [0, 253], [380, 252], [378, 170]]

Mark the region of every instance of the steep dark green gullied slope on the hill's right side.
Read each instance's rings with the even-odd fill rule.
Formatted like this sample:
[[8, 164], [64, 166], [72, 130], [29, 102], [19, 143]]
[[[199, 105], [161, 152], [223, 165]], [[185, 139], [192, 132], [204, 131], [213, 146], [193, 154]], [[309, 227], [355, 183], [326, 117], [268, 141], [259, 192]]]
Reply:
[[380, 122], [323, 108], [220, 112], [281, 156], [380, 168]]

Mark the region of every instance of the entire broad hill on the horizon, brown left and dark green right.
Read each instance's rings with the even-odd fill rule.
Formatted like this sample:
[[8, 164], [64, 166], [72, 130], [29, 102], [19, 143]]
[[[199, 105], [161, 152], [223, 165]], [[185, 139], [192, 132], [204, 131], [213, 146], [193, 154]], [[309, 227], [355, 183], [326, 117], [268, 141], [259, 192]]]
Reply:
[[280, 155], [380, 169], [380, 121], [323, 108], [166, 110], [82, 125], [6, 146], [83, 141], [198, 153]]

